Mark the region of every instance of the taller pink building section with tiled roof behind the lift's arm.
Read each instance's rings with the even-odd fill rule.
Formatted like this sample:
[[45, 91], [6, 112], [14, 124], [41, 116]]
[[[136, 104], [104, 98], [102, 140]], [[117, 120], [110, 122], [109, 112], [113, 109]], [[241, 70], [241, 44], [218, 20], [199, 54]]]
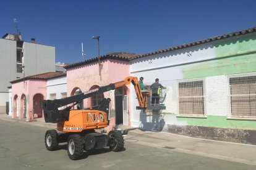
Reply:
[[[135, 55], [127, 52], [102, 55], [100, 56], [100, 68], [98, 58], [67, 65], [64, 67], [67, 70], [67, 96], [122, 81], [129, 76], [129, 59]], [[98, 105], [103, 98], [110, 98], [111, 121], [109, 128], [112, 128], [113, 124], [129, 125], [127, 94], [129, 94], [129, 87], [119, 87], [114, 91], [84, 99], [83, 106], [80, 108], [90, 108]]]

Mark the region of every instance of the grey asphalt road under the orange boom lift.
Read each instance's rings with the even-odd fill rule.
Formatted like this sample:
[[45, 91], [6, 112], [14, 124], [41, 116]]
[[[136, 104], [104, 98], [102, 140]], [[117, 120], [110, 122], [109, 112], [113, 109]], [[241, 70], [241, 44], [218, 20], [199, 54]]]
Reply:
[[125, 141], [122, 152], [104, 148], [72, 161], [66, 144], [57, 151], [46, 150], [46, 127], [0, 119], [0, 129], [0, 169], [256, 169], [248, 164], [174, 152], [171, 148], [147, 147], [132, 139]]

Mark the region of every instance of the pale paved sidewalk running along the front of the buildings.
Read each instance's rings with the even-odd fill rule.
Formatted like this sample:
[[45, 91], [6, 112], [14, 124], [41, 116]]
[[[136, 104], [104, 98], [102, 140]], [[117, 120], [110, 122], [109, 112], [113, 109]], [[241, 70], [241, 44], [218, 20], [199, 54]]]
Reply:
[[[26, 122], [25, 119], [12, 119], [11, 116], [0, 114], [0, 119], [4, 121], [30, 124], [32, 126], [47, 127], [50, 129], [56, 128], [56, 124], [45, 123], [45, 119], [43, 118], [38, 118], [36, 121]], [[149, 147], [171, 149], [174, 152], [183, 152], [220, 160], [256, 165], [255, 145], [197, 139], [165, 132], [145, 131], [143, 129], [123, 125], [118, 127], [124, 131], [125, 143], [133, 142]]]

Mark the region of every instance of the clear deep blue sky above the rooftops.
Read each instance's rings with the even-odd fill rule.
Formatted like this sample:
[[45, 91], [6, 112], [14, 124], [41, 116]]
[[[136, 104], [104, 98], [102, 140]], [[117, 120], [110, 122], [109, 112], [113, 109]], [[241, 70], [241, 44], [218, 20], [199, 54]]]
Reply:
[[0, 36], [16, 33], [24, 41], [56, 47], [56, 62], [82, 60], [109, 52], [165, 49], [256, 26], [254, 0], [45, 0], [0, 1]]

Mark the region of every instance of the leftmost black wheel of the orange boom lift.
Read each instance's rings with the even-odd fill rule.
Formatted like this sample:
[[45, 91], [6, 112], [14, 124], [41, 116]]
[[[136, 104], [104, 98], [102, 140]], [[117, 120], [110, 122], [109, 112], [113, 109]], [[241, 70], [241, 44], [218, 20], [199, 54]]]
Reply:
[[45, 147], [47, 150], [57, 150], [59, 143], [57, 140], [58, 132], [56, 130], [48, 130], [45, 132]]

